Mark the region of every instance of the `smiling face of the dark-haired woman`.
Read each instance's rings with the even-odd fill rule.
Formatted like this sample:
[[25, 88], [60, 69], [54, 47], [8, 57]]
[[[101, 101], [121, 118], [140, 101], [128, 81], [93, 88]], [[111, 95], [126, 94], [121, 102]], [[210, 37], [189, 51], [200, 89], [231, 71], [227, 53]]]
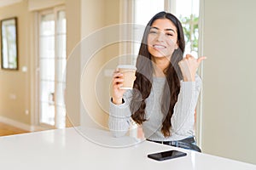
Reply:
[[154, 20], [148, 34], [149, 53], [154, 57], [171, 59], [177, 48], [177, 27], [168, 19]]

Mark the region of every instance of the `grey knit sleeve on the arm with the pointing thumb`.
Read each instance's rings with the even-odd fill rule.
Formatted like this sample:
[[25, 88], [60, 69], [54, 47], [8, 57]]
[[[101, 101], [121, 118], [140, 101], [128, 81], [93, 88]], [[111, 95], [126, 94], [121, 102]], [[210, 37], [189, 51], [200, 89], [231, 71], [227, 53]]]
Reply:
[[174, 106], [172, 133], [183, 135], [195, 124], [195, 106], [201, 90], [201, 78], [196, 75], [195, 82], [181, 82], [180, 93]]

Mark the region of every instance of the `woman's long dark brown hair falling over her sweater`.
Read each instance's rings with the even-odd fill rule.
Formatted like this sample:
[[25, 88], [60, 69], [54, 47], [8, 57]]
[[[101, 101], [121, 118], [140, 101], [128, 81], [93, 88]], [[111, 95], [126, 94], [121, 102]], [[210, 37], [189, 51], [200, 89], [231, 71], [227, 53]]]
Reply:
[[[180, 60], [183, 59], [183, 52], [185, 48], [185, 41], [183, 35], [183, 27], [177, 18], [170, 13], [160, 12], [155, 14], [154, 17], [148, 21], [148, 25], [145, 28], [143, 34], [143, 41], [139, 50], [137, 57], [137, 72], [136, 80], [134, 82], [134, 93], [131, 99], [131, 117], [141, 125], [143, 122], [147, 121], [145, 116], [146, 103], [145, 99], [148, 98], [153, 81], [153, 63], [151, 61], [151, 54], [148, 52], [148, 33], [150, 26], [152, 26], [154, 20], [158, 19], [168, 19], [177, 27], [177, 44], [178, 47], [174, 50], [171, 62], [165, 69], [164, 73], [166, 76], [166, 84], [163, 91], [163, 96], [161, 100], [161, 111], [164, 114], [164, 119], [162, 120], [161, 132], [165, 137], [171, 135], [170, 127], [172, 127], [171, 117], [173, 114], [174, 105], [177, 103], [177, 95], [180, 91], [180, 81], [183, 79], [182, 73], [179, 66], [177, 65]], [[136, 93], [137, 90], [140, 93]], [[157, 129], [156, 129], [157, 130]]]

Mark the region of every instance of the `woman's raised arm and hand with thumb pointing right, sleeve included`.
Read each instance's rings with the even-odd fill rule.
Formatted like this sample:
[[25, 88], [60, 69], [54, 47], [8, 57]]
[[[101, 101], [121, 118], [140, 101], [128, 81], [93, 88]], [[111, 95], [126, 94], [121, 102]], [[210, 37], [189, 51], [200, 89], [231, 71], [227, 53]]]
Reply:
[[183, 73], [180, 92], [177, 96], [177, 103], [174, 106], [172, 122], [172, 133], [180, 135], [188, 134], [193, 130], [195, 124], [195, 106], [201, 90], [201, 78], [196, 75], [196, 71], [201, 65], [201, 61], [207, 59], [200, 57], [195, 59], [187, 54], [179, 63]]

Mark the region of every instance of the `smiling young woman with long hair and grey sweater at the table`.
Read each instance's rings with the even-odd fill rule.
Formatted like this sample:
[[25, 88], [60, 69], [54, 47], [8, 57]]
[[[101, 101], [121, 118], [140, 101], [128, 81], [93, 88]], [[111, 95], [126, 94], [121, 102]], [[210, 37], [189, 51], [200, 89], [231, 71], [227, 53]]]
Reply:
[[109, 128], [114, 136], [127, 133], [131, 122], [143, 127], [149, 141], [201, 151], [195, 145], [195, 106], [201, 89], [196, 70], [202, 59], [183, 58], [183, 27], [160, 12], [149, 20], [137, 57], [132, 90], [120, 89], [123, 75], [113, 73]]

